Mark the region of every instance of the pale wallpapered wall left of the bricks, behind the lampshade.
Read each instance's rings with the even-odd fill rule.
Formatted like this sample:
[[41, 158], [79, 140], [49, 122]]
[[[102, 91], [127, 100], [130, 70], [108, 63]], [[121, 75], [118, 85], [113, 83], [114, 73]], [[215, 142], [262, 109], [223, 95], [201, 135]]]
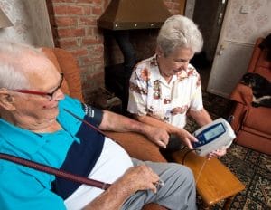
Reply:
[[1, 0], [0, 8], [14, 24], [0, 29], [0, 39], [53, 46], [46, 0]]

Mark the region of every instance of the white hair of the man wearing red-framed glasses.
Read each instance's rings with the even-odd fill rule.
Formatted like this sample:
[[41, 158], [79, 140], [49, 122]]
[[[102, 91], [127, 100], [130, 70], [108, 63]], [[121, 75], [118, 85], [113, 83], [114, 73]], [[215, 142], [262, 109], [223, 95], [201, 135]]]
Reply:
[[22, 43], [0, 42], [0, 88], [28, 89], [30, 82], [23, 70], [22, 56], [28, 53], [42, 54], [39, 49]]

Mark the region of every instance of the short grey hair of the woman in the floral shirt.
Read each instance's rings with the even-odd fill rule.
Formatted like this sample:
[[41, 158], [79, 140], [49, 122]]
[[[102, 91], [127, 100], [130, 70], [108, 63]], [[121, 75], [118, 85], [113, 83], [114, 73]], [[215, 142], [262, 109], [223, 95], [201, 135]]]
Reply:
[[203, 39], [198, 26], [182, 15], [169, 17], [157, 37], [157, 46], [165, 57], [180, 47], [190, 48], [194, 53], [201, 52], [202, 45]]

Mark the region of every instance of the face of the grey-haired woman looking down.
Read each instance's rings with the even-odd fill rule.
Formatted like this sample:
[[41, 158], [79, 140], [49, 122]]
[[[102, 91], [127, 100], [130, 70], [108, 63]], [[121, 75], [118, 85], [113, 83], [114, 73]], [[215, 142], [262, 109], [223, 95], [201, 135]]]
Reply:
[[187, 69], [194, 52], [190, 48], [177, 48], [167, 57], [164, 57], [164, 52], [158, 49], [157, 55], [162, 76], [172, 77], [174, 74]]

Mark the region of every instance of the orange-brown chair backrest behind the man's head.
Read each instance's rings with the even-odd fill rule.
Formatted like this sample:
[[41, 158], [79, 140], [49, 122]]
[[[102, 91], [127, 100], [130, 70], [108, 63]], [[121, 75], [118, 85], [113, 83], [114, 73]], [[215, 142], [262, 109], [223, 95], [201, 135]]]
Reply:
[[60, 48], [46, 47], [42, 48], [42, 52], [51, 60], [59, 72], [64, 73], [61, 91], [83, 102], [80, 70], [72, 54]]

